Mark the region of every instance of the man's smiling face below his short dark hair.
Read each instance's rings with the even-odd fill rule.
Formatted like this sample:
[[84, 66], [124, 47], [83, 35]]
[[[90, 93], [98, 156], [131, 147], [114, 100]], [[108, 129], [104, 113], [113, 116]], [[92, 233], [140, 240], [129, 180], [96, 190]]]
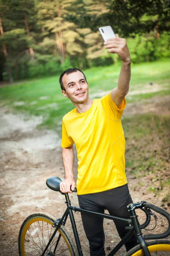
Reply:
[[63, 85], [65, 90], [62, 93], [72, 103], [86, 102], [89, 98], [89, 84], [86, 82], [83, 73], [76, 71], [69, 75], [64, 74]]

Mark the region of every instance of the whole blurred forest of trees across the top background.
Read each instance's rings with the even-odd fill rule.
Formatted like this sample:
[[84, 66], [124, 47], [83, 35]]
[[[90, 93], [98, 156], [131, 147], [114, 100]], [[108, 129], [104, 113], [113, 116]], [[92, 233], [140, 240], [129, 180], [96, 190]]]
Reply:
[[169, 0], [1, 0], [0, 81], [117, 63], [98, 31], [127, 39], [133, 63], [170, 57]]

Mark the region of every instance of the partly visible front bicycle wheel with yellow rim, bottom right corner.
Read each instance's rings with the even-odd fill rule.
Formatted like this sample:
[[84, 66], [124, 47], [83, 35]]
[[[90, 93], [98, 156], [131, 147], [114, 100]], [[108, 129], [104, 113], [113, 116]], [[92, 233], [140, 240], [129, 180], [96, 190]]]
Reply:
[[[159, 239], [147, 242], [147, 247], [151, 256], [170, 256], [170, 240]], [[129, 250], [124, 256], [144, 256], [141, 245], [137, 245]]]

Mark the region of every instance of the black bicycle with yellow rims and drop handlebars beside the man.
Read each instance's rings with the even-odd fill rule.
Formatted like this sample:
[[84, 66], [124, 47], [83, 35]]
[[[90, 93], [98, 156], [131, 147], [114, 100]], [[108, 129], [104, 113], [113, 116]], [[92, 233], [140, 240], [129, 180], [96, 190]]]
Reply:
[[[51, 177], [46, 180], [46, 185], [50, 189], [58, 192], [61, 192], [60, 183], [61, 179], [59, 177]], [[77, 192], [76, 188], [74, 192]], [[141, 201], [136, 204], [127, 205], [127, 209], [130, 212], [130, 218], [119, 218], [106, 213], [93, 212], [91, 210], [72, 206], [68, 193], [64, 194], [61, 192], [61, 194], [65, 195], [65, 203], [67, 205], [66, 211], [61, 218], [56, 219], [47, 213], [37, 212], [29, 215], [25, 221], [23, 221], [18, 238], [20, 256], [83, 256], [73, 211], [94, 214], [103, 218], [124, 221], [127, 223], [126, 229], [129, 230], [128, 233], [112, 249], [108, 256], [115, 255], [134, 233], [138, 238], [139, 244], [125, 253], [124, 256], [170, 256], [170, 240], [164, 239], [170, 235], [170, 214], [163, 209], [156, 207], [153, 204], [149, 204], [146, 201]], [[135, 209], [141, 209], [145, 212], [146, 221], [144, 224], [139, 224]], [[154, 210], [167, 218], [169, 226], [164, 233], [142, 236], [141, 230], [150, 224], [151, 215], [153, 215], [155, 219], [157, 218], [151, 210]], [[65, 228], [68, 216], [70, 217], [72, 224], [76, 245]], [[146, 242], [148, 239], [158, 240]]]

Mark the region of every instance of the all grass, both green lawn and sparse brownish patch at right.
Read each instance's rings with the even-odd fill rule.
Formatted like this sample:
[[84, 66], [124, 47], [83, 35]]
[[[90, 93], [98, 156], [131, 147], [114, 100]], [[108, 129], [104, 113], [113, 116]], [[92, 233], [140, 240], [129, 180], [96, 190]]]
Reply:
[[[120, 66], [109, 66], [85, 70], [89, 95], [116, 87], [120, 69]], [[170, 95], [170, 59], [132, 65], [131, 73], [127, 103], [144, 103], [155, 96]], [[53, 76], [2, 87], [0, 105], [7, 106], [7, 109], [14, 112], [41, 115], [43, 122], [40, 127], [53, 129], [61, 135], [62, 117], [74, 106], [62, 95], [58, 79], [59, 76]], [[155, 88], [158, 90], [154, 90]], [[168, 187], [170, 184], [166, 176], [170, 159], [170, 117], [164, 116], [162, 107], [160, 115], [138, 113], [124, 116], [122, 124], [127, 142], [127, 172], [133, 172], [136, 177], [154, 175], [149, 189], [159, 193], [163, 186]], [[164, 200], [169, 201], [169, 198], [170, 195], [167, 194]]]

